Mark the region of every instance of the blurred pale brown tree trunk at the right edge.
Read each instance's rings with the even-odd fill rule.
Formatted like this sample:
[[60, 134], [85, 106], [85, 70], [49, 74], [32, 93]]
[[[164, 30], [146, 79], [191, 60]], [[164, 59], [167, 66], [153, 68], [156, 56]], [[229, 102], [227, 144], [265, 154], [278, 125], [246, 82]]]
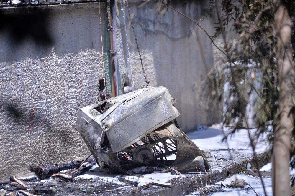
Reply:
[[291, 86], [294, 85], [295, 71], [292, 63], [291, 27], [292, 21], [288, 11], [280, 1], [273, 1], [277, 8], [275, 16], [276, 37], [278, 39], [278, 121], [275, 128], [272, 155], [272, 183], [273, 195], [291, 196], [290, 191], [290, 148], [291, 130], [294, 126], [294, 105], [291, 102]]

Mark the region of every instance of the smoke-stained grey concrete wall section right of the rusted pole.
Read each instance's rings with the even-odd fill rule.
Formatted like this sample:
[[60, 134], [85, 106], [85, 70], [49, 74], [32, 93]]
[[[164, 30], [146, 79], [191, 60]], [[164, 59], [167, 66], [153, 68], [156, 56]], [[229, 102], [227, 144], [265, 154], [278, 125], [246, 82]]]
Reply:
[[[198, 124], [211, 125], [217, 122], [219, 114], [208, 112], [197, 100], [198, 87], [214, 63], [210, 39], [194, 22], [170, 8], [163, 16], [156, 14], [158, 1], [150, 1], [139, 9], [137, 6], [141, 1], [128, 2], [131, 15], [134, 14], [132, 22], [147, 79], [151, 81], [151, 86], [167, 87], [171, 96], [176, 99], [175, 106], [181, 114], [177, 119], [180, 127], [186, 132], [195, 130]], [[169, 5], [197, 21], [205, 7], [208, 7], [208, 1], [188, 1], [185, 5], [182, 1], [173, 1]], [[144, 77], [132, 27], [128, 28], [130, 19], [126, 2], [118, 0], [117, 6], [120, 20], [117, 22], [117, 29], [122, 32], [117, 39], [122, 37], [125, 58], [125, 62], [120, 63], [131, 64], [134, 85], [138, 89], [144, 84]], [[201, 24], [209, 35], [213, 35], [216, 22], [213, 12]], [[206, 67], [202, 63], [200, 52], [194, 47], [199, 48], [199, 45], [190, 26], [199, 34]], [[131, 81], [129, 85], [131, 86]]]

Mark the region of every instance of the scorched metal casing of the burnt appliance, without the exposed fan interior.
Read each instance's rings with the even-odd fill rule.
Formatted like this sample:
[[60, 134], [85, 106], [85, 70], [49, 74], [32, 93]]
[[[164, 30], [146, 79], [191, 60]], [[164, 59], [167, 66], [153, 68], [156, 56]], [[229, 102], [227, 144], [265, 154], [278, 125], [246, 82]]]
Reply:
[[[176, 164], [193, 161], [198, 156], [202, 159], [204, 153], [176, 127], [177, 124], [172, 123], [180, 115], [175, 103], [165, 87], [139, 89], [79, 109], [76, 128], [99, 166], [104, 168], [107, 164], [121, 173], [124, 170], [116, 153], [126, 150], [151, 132], [178, 141]], [[108, 145], [104, 143], [106, 137]], [[209, 169], [207, 159], [204, 163]]]

